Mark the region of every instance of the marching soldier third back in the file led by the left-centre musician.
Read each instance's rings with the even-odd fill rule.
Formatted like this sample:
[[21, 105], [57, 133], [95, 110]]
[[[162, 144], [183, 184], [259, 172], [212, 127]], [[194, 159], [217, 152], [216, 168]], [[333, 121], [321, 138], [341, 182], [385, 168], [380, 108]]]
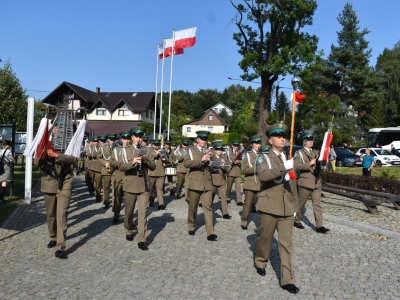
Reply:
[[[107, 140], [109, 141], [107, 143]], [[114, 140], [110, 140], [107, 136], [99, 136], [100, 154], [97, 157], [97, 162], [101, 165], [101, 178], [103, 182], [103, 204], [104, 208], [110, 207], [110, 188], [112, 168], [110, 166], [111, 146]]]

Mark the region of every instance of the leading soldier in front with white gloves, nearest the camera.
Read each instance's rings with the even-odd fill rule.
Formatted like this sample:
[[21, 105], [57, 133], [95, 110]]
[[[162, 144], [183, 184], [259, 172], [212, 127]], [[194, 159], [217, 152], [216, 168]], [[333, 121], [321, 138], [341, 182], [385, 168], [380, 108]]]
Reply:
[[292, 269], [292, 233], [294, 202], [287, 170], [293, 168], [293, 159], [287, 160], [283, 148], [286, 143], [286, 125], [274, 124], [267, 130], [271, 144], [269, 153], [257, 158], [257, 175], [261, 181], [257, 202], [259, 228], [255, 265], [257, 273], [265, 276], [272, 240], [278, 230], [278, 251], [281, 260], [281, 288], [296, 294]]

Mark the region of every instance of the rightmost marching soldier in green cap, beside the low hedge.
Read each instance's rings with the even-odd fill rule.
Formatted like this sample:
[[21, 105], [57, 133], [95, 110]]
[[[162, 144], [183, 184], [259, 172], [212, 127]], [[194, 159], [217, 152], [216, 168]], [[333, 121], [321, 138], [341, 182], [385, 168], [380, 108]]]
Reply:
[[308, 197], [311, 196], [317, 232], [325, 234], [330, 229], [324, 227], [322, 220], [321, 177], [318, 162], [319, 151], [312, 149], [314, 145], [313, 132], [305, 132], [302, 139], [304, 148], [297, 151], [294, 156], [294, 167], [300, 173], [300, 178], [297, 180], [299, 203], [296, 207], [294, 226], [304, 229], [304, 226], [301, 224], [301, 216], [304, 205]]

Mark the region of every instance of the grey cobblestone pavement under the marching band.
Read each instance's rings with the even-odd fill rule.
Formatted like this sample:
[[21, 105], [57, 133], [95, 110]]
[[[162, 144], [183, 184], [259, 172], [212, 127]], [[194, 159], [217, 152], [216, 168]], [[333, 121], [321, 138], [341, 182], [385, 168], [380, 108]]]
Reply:
[[[233, 193], [232, 193], [233, 194]], [[379, 206], [370, 215], [357, 201], [324, 193], [327, 235], [317, 234], [311, 201], [305, 230], [294, 229], [293, 265], [300, 293], [279, 287], [276, 241], [265, 277], [254, 268], [257, 215], [240, 228], [214, 204], [217, 242], [208, 242], [202, 209], [195, 236], [187, 234], [187, 204], [166, 197], [167, 210], [148, 210], [149, 251], [125, 239], [122, 216], [95, 203], [75, 177], [68, 222], [68, 259], [49, 242], [41, 194], [21, 205], [0, 229], [0, 299], [399, 299], [400, 211]], [[157, 205], [156, 205], [157, 206]], [[123, 215], [124, 211], [122, 211]], [[276, 235], [277, 237], [277, 235]]]

